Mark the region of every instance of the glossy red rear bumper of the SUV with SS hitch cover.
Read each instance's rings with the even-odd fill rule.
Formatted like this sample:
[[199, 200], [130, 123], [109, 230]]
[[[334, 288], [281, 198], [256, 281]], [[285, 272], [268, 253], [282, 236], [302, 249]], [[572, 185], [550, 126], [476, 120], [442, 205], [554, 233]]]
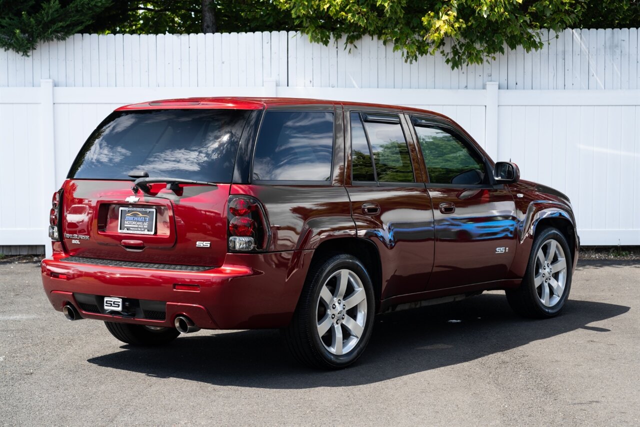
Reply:
[[[204, 329], [278, 328], [291, 320], [312, 251], [227, 254], [225, 265], [172, 271], [80, 264], [63, 254], [42, 261], [42, 283], [54, 309], [72, 303], [86, 319], [173, 327], [188, 316]], [[175, 285], [195, 285], [180, 290]], [[198, 288], [199, 287], [199, 288]], [[163, 302], [164, 320], [112, 316], [81, 308], [74, 294]]]

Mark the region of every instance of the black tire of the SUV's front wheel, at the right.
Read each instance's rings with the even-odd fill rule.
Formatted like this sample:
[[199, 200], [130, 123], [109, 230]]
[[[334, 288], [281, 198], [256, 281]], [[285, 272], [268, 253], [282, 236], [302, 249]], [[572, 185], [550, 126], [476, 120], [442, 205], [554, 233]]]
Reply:
[[[538, 259], [538, 251], [543, 245], [547, 245], [550, 241], [556, 241], [561, 246], [564, 252], [564, 261], [566, 263], [566, 280], [564, 284], [564, 291], [562, 296], [559, 297], [556, 303], [552, 306], [545, 305], [538, 293], [538, 287], [535, 284], [536, 273], [541, 274], [541, 270], [536, 270], [536, 259]], [[572, 280], [572, 256], [569, 248], [569, 244], [566, 241], [564, 235], [553, 227], [547, 227], [536, 236], [533, 245], [531, 246], [531, 254], [529, 255], [529, 262], [527, 264], [527, 271], [525, 271], [522, 278], [522, 284], [517, 289], [509, 289], [506, 291], [507, 300], [511, 308], [521, 316], [534, 319], [545, 319], [557, 316], [566, 305], [566, 300], [569, 297], [571, 291]], [[547, 291], [550, 288], [546, 284], [541, 286], [547, 286]], [[540, 286], [540, 291], [542, 291]]]

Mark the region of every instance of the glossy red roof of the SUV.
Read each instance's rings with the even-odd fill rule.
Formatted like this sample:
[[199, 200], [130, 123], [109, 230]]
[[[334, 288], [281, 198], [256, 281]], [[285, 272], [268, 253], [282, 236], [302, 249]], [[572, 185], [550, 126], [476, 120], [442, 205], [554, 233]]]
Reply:
[[[300, 105], [344, 105], [344, 106], [365, 106], [378, 108], [403, 109], [404, 111], [426, 111], [417, 108], [406, 108], [385, 104], [369, 104], [366, 102], [352, 101], [330, 101], [327, 99], [306, 99], [306, 98], [253, 98], [253, 97], [202, 97], [202, 98], [180, 98], [163, 99], [159, 101], [140, 102], [138, 104], [125, 105], [117, 108], [116, 111], [131, 109], [173, 109], [173, 108], [229, 108], [229, 109], [263, 109], [272, 106], [300, 106]], [[432, 111], [429, 111], [433, 113]], [[437, 114], [437, 113], [434, 113]]]

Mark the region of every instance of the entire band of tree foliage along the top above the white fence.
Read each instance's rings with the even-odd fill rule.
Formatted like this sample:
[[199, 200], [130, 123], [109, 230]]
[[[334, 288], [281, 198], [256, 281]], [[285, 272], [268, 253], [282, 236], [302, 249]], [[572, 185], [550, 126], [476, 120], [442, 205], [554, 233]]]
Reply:
[[324, 44], [346, 35], [347, 46], [375, 35], [408, 60], [444, 52], [458, 67], [481, 63], [504, 45], [538, 49], [546, 40], [536, 30], [568, 27], [640, 27], [640, 0], [0, 0], [0, 47], [22, 54], [41, 40], [80, 32], [300, 29]]

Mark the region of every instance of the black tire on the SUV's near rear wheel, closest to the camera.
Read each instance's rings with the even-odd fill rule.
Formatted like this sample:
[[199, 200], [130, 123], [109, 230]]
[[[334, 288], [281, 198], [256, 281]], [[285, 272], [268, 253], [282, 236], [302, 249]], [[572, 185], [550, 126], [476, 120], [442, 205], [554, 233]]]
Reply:
[[[340, 270], [350, 270], [360, 279], [360, 284], [365, 292], [367, 312], [362, 316], [362, 319], [364, 319], [364, 327], [355, 346], [342, 355], [336, 355], [323, 344], [323, 339], [326, 341], [326, 335], [324, 335], [324, 337], [319, 336], [318, 318], [321, 314], [319, 313], [321, 308], [319, 309], [318, 307], [320, 304], [319, 298], [321, 298], [320, 294], [325, 282], [330, 280], [332, 275]], [[351, 283], [353, 282], [350, 282], [349, 286], [351, 286]], [[360, 286], [360, 284], [358, 284], [358, 286]], [[355, 288], [349, 289], [355, 292]], [[353, 293], [351, 295], [353, 295]], [[349, 294], [345, 294], [345, 301], [348, 300], [348, 296]], [[371, 278], [362, 265], [362, 262], [348, 254], [333, 255], [325, 258], [323, 261], [315, 262], [311, 266], [307, 275], [307, 282], [305, 282], [300, 300], [298, 301], [298, 307], [296, 307], [289, 326], [282, 329], [282, 334], [294, 359], [298, 360], [301, 364], [319, 369], [340, 369], [355, 362], [365, 350], [371, 337], [375, 307]], [[340, 307], [338, 307], [338, 309], [340, 309]], [[346, 315], [355, 316], [351, 310], [353, 309], [346, 309], [344, 312]], [[324, 315], [329, 316], [329, 313], [330, 312], [326, 310]], [[346, 325], [333, 326], [333, 322], [334, 321], [331, 323], [332, 326], [330, 326], [330, 332], [332, 332], [331, 328], [340, 328], [340, 330], [346, 331], [344, 333], [348, 336], [348, 338], [346, 338], [346, 340], [348, 340], [350, 335], [349, 328], [346, 327]], [[328, 333], [330, 334], [330, 332]]]

